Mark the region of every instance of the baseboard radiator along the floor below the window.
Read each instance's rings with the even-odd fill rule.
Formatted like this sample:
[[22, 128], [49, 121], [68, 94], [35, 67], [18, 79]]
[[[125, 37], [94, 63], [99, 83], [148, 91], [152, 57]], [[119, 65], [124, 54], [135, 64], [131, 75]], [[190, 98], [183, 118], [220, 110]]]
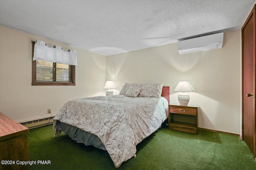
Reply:
[[34, 129], [36, 127], [52, 125], [53, 124], [53, 118], [54, 117], [47, 117], [47, 118], [44, 118], [44, 119], [27, 121], [27, 122], [20, 123], [20, 124], [22, 124], [23, 126], [26, 126], [28, 129]]

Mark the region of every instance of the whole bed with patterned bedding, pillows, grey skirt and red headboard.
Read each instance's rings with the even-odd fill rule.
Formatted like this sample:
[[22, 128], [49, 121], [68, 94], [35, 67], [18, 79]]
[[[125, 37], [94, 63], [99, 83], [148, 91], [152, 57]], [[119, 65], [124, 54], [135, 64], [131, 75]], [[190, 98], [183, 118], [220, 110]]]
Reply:
[[161, 127], [168, 104], [167, 86], [125, 84], [119, 95], [68, 101], [54, 117], [54, 135], [63, 131], [78, 143], [107, 150], [118, 168], [135, 157], [138, 143]]

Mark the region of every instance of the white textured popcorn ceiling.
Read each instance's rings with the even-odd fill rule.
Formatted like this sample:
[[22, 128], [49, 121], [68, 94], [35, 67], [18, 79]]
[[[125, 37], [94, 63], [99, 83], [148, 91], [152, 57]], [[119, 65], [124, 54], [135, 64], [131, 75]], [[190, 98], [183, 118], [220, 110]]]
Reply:
[[108, 56], [240, 29], [254, 2], [0, 0], [0, 25]]

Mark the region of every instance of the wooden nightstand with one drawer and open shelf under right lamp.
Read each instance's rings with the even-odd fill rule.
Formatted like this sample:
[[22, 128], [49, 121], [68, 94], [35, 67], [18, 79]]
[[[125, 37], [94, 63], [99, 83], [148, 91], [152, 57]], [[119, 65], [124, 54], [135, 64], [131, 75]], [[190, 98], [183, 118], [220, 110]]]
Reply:
[[189, 133], [198, 130], [198, 108], [199, 106], [169, 105], [168, 128]]

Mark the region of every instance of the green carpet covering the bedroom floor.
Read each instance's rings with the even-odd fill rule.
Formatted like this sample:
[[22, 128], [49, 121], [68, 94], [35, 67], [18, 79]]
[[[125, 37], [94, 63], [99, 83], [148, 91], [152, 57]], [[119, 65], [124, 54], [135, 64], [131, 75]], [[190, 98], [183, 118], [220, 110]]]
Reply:
[[159, 131], [137, 145], [136, 158], [115, 168], [107, 151], [76, 143], [67, 135], [53, 137], [52, 125], [28, 133], [29, 160], [50, 160], [30, 170], [256, 170], [253, 154], [233, 135], [199, 131], [198, 135]]

